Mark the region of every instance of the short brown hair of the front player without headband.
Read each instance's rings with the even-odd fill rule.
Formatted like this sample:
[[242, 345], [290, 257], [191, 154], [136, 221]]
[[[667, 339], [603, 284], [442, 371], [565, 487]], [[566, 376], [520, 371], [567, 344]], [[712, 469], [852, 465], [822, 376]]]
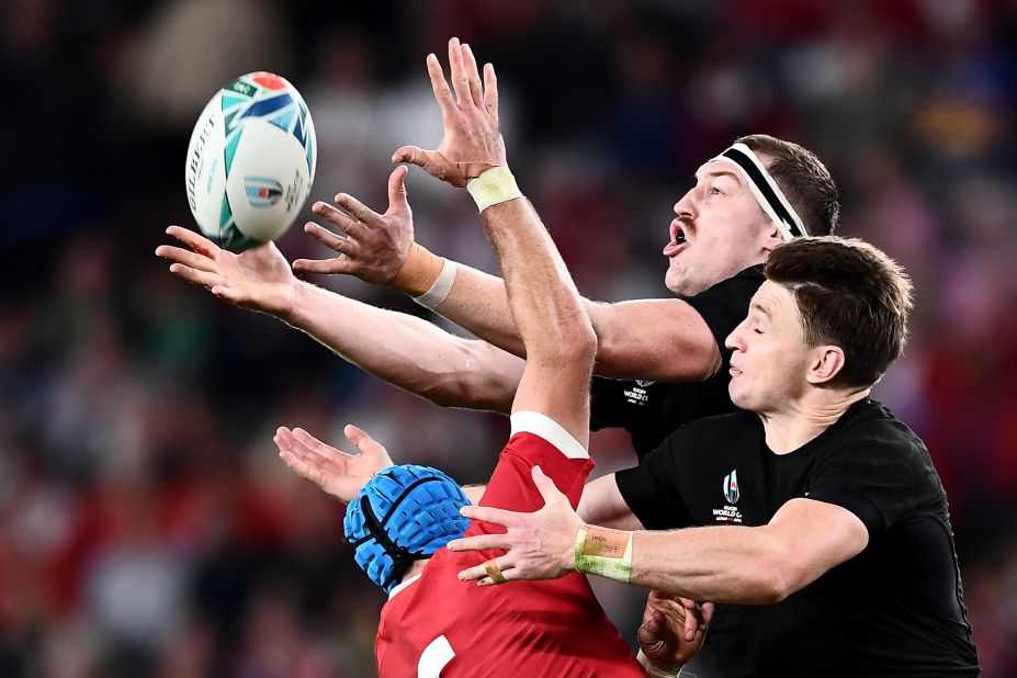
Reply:
[[844, 350], [833, 385], [871, 386], [903, 352], [913, 287], [880, 249], [855, 238], [795, 238], [773, 248], [765, 270], [794, 294], [805, 342]]

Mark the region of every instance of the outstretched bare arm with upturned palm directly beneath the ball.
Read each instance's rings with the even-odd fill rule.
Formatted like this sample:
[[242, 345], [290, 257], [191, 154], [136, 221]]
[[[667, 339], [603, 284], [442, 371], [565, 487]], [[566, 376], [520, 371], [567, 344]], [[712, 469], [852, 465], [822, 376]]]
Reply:
[[156, 253], [171, 262], [176, 275], [215, 296], [274, 316], [366, 372], [439, 405], [509, 411], [521, 359], [415, 316], [302, 282], [272, 244], [238, 256], [179, 226], [167, 233], [187, 248], [162, 245]]

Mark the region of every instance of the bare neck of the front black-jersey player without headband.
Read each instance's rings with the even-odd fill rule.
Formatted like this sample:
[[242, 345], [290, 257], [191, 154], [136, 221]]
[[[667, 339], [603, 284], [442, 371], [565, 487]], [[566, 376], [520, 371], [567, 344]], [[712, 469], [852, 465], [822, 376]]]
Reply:
[[815, 391], [781, 411], [760, 414], [766, 444], [776, 454], [787, 454], [817, 438], [832, 427], [869, 388], [851, 391]]

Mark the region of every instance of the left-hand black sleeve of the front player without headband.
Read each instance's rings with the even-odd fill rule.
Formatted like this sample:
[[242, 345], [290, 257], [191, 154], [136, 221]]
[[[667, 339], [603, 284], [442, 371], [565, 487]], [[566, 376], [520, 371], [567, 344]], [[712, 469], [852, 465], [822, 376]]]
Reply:
[[692, 522], [679, 487], [680, 433], [673, 433], [637, 466], [614, 474], [622, 499], [647, 530], [683, 528]]

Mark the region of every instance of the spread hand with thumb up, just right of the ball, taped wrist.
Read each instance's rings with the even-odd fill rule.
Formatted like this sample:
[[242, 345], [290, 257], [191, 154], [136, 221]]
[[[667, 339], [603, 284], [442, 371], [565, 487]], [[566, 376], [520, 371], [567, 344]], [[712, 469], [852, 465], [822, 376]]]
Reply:
[[338, 210], [316, 202], [312, 212], [343, 235], [308, 222], [304, 233], [336, 251], [334, 259], [297, 259], [293, 270], [306, 273], [346, 273], [364, 282], [385, 284], [395, 278], [414, 244], [414, 214], [406, 197], [405, 166], [388, 177], [388, 210], [378, 214], [346, 193], [336, 195]]

